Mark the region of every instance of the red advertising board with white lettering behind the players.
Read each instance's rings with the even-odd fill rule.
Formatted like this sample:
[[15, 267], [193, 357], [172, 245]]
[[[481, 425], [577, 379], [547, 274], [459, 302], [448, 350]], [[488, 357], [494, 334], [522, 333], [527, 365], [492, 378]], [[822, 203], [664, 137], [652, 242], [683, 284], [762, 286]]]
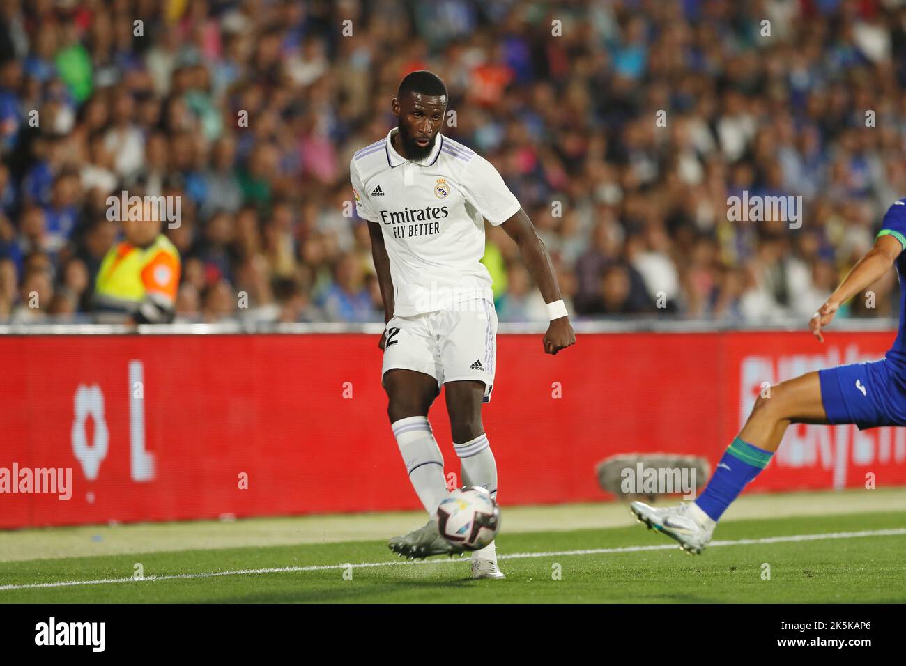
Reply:
[[[498, 336], [484, 422], [506, 505], [605, 499], [634, 451], [713, 466], [763, 382], [879, 358], [892, 333], [605, 333], [556, 356]], [[0, 492], [0, 527], [419, 507], [373, 335], [0, 338], [0, 475], [70, 469], [70, 497]], [[458, 473], [444, 401], [431, 423]], [[906, 484], [906, 430], [795, 426], [747, 490]]]

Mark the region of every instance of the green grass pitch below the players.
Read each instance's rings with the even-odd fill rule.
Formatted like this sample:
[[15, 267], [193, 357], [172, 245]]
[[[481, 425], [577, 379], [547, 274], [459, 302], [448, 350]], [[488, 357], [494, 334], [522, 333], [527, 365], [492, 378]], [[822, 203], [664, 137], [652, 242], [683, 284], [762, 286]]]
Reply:
[[[0, 603], [906, 603], [906, 511], [735, 520], [699, 556], [628, 522], [505, 522], [501, 581], [472, 580], [465, 557], [406, 563], [377, 540], [258, 544], [3, 561]], [[137, 563], [144, 580], [124, 581]]]

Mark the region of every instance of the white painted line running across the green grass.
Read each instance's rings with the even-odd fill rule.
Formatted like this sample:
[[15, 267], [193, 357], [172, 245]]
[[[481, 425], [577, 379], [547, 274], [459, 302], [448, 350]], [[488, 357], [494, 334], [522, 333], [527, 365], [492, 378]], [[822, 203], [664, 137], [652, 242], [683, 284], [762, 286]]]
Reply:
[[[708, 548], [724, 545], [757, 545], [757, 544], [782, 544], [793, 541], [821, 541], [824, 539], [853, 539], [861, 536], [902, 536], [906, 535], [906, 527], [895, 529], [873, 529], [863, 532], [828, 532], [819, 535], [794, 535], [794, 536], [767, 536], [761, 539], [737, 539], [735, 541], [714, 541]], [[650, 550], [673, 550], [678, 545], [626, 545], [619, 548], [590, 548], [587, 550], [556, 550], [546, 553], [510, 553], [497, 555], [499, 560], [516, 560], [528, 557], [564, 557], [569, 555], [611, 555], [613, 553], [642, 553]], [[438, 560], [402, 560], [388, 562], [362, 562], [358, 565], [310, 565], [310, 566], [278, 566], [266, 569], [235, 569], [232, 571], [212, 571], [203, 574], [169, 574], [147, 575], [142, 578], [101, 578], [93, 581], [56, 581], [54, 583], [30, 583], [0, 585], [0, 592], [6, 590], [33, 590], [43, 587], [73, 587], [76, 585], [106, 585], [117, 583], [147, 583], [149, 581], [188, 580], [191, 578], [214, 578], [220, 575], [249, 575], [249, 574], [285, 574], [305, 571], [329, 571], [331, 569], [361, 569], [373, 566], [413, 566], [413, 565], [448, 565], [450, 563], [468, 562], [467, 558], [448, 558]]]

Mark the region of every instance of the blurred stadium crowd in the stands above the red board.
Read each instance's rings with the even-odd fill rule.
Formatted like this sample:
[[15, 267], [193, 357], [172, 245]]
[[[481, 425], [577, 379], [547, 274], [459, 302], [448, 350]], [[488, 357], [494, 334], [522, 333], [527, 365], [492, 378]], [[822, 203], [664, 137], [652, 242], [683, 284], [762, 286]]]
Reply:
[[[0, 61], [0, 322], [90, 321], [121, 190], [182, 198], [177, 321], [381, 321], [348, 164], [417, 69], [579, 318], [807, 318], [906, 196], [900, 0], [3, 0]], [[501, 229], [483, 261], [546, 320]]]

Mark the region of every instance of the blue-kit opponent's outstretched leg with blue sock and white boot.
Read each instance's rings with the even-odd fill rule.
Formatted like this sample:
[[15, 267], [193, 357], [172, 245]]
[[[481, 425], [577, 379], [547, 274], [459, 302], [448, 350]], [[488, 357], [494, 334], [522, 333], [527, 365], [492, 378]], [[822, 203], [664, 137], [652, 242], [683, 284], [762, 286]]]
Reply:
[[[836, 381], [832, 375], [828, 377]], [[694, 502], [662, 509], [632, 502], [632, 513], [650, 528], [676, 539], [687, 552], [701, 553], [720, 516], [766, 468], [791, 423], [842, 422], [830, 420], [825, 412], [822, 388], [828, 381], [822, 381], [818, 372], [809, 372], [772, 386], [758, 396], [746, 425], [724, 452], [708, 486]]]

